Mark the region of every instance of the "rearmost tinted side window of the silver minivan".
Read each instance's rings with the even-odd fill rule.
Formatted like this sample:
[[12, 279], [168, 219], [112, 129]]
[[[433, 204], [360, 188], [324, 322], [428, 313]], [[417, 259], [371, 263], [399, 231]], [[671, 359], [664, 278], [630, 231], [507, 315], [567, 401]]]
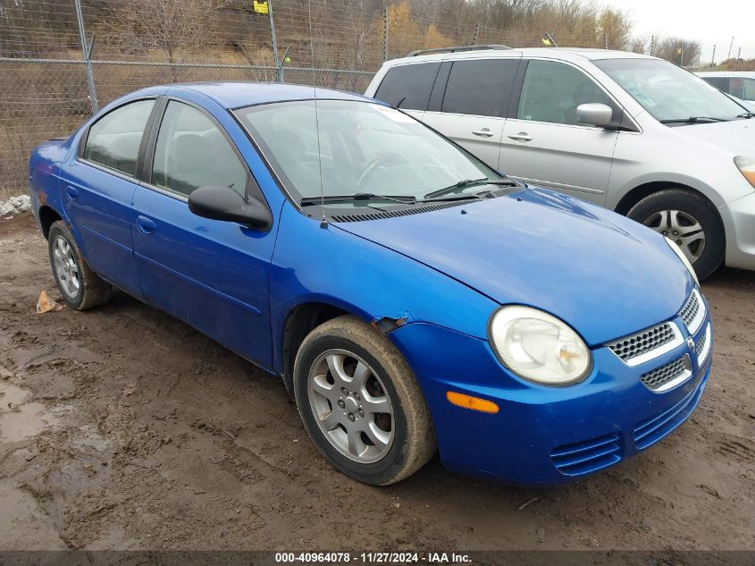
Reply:
[[393, 67], [380, 83], [375, 98], [402, 110], [427, 110], [438, 69], [440, 63]]

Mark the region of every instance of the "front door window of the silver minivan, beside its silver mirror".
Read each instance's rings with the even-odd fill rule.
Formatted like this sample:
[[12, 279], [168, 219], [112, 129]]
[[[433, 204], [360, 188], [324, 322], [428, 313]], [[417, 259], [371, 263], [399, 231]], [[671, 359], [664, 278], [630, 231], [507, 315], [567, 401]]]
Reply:
[[606, 93], [582, 71], [564, 63], [533, 60], [524, 75], [516, 117], [579, 125], [577, 106], [591, 102], [611, 106]]

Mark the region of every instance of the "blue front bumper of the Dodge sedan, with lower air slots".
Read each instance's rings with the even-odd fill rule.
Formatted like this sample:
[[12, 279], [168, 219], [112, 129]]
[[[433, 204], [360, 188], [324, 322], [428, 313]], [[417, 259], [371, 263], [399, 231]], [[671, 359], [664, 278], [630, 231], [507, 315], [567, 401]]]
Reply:
[[[686, 339], [681, 318], [675, 323]], [[692, 337], [695, 344], [708, 326], [706, 314]], [[487, 341], [466, 334], [415, 323], [390, 336], [424, 391], [443, 464], [519, 485], [574, 480], [657, 443], [697, 407], [712, 359], [712, 348], [698, 360], [685, 340], [656, 359], [628, 367], [607, 347], [599, 347], [593, 350], [594, 367], [583, 383], [549, 387], [512, 376]], [[692, 375], [683, 383], [663, 393], [641, 383], [644, 372], [684, 354], [692, 360]], [[451, 405], [448, 391], [493, 401], [500, 410], [487, 414]]]

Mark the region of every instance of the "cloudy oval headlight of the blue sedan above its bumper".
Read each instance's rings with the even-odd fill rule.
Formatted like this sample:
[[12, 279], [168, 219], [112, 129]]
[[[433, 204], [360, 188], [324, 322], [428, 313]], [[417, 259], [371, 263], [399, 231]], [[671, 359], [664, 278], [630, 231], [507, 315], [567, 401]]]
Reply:
[[592, 367], [582, 338], [558, 318], [537, 308], [502, 307], [491, 317], [491, 345], [517, 376], [546, 385], [582, 381]]

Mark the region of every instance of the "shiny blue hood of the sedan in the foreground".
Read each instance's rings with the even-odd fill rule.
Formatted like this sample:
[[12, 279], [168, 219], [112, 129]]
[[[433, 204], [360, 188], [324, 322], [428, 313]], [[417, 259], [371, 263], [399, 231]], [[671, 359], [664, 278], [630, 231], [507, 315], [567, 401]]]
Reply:
[[500, 304], [548, 311], [590, 345], [674, 317], [692, 289], [658, 233], [550, 190], [334, 225]]

